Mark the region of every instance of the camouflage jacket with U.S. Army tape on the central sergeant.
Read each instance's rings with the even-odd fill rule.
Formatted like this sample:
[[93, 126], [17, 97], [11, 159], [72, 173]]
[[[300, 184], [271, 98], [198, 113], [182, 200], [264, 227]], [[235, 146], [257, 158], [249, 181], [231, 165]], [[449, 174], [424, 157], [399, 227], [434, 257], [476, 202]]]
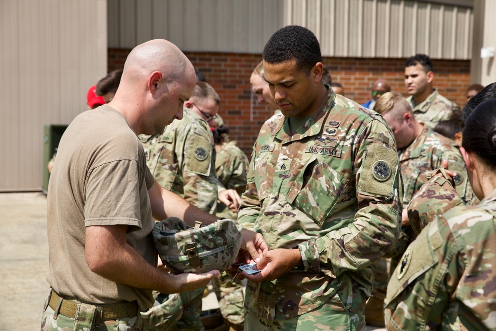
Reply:
[[322, 108], [293, 134], [283, 115], [265, 122], [238, 222], [261, 233], [269, 249], [299, 249], [303, 266], [274, 281], [248, 282], [248, 312], [289, 319], [334, 295], [347, 309], [354, 295], [370, 296], [370, 265], [400, 231], [399, 191], [389, 127], [331, 89]]

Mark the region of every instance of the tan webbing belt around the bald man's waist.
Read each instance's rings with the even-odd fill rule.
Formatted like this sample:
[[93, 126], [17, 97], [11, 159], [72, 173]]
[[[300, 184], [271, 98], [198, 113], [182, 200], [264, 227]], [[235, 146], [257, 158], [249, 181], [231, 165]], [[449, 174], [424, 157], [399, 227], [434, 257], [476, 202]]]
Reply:
[[[59, 301], [62, 299], [60, 308], [57, 311]], [[55, 314], [61, 314], [69, 318], [76, 317], [77, 303], [64, 300], [59, 294], [52, 290], [50, 301], [48, 302], [50, 308], [55, 311]], [[124, 318], [131, 318], [138, 315], [138, 303], [136, 301], [121, 301], [120, 303], [108, 305], [95, 305], [102, 316], [102, 321], [119, 320]]]

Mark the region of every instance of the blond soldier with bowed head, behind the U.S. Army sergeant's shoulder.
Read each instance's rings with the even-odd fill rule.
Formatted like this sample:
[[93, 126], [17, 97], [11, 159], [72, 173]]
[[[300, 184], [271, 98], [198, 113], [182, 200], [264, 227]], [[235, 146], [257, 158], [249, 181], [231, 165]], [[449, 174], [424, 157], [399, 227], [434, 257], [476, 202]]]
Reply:
[[[465, 198], [468, 179], [462, 156], [453, 142], [432, 132], [426, 125], [418, 122], [413, 116], [410, 105], [401, 94], [392, 92], [383, 94], [374, 105], [374, 110], [382, 114], [395, 135], [404, 185], [402, 233], [394, 249], [387, 255], [392, 258], [391, 265], [394, 269], [408, 244], [417, 235], [409, 224], [408, 203], [422, 185], [428, 181], [430, 173], [441, 166], [442, 160], [448, 160], [450, 170], [456, 171], [458, 174], [456, 187], [459, 196], [463, 198]], [[384, 270], [384, 262], [375, 262], [374, 269]], [[383, 320], [383, 310], [380, 309], [379, 311], [378, 306], [381, 307], [385, 298], [386, 288], [384, 285], [387, 284], [388, 280], [389, 272], [381, 274], [376, 272], [374, 274], [374, 298], [369, 304], [373, 304], [375, 307], [367, 307], [367, 317], [373, 322]], [[369, 309], [371, 309], [370, 313]]]

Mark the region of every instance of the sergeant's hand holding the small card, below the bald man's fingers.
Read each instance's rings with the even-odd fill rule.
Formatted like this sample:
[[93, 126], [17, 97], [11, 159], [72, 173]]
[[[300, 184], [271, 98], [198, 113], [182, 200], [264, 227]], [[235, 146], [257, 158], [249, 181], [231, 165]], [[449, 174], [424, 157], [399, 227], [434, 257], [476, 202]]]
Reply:
[[265, 253], [256, 263], [256, 269], [261, 270], [260, 272], [255, 274], [243, 272], [243, 275], [256, 283], [274, 280], [301, 264], [302, 258], [299, 250], [277, 248]]

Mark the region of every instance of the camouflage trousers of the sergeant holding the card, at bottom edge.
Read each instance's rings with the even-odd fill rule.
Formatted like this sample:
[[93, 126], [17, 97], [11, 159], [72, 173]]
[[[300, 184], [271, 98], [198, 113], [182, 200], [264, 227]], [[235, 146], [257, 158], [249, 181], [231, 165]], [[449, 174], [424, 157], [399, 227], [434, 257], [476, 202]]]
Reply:
[[[361, 293], [361, 291], [358, 291]], [[365, 331], [365, 295], [354, 295], [349, 310], [336, 294], [314, 310], [292, 319], [269, 321], [245, 312], [245, 330]]]

